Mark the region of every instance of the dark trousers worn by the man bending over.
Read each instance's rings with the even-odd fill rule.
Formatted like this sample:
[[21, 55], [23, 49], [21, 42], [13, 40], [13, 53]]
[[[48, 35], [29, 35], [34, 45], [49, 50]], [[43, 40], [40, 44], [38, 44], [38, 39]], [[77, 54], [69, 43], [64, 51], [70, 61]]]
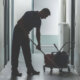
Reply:
[[18, 57], [20, 46], [23, 50], [23, 56], [26, 63], [26, 67], [28, 70], [31, 70], [32, 61], [31, 61], [31, 52], [30, 52], [30, 41], [28, 38], [28, 34], [25, 35], [24, 30], [22, 30], [19, 25], [16, 25], [13, 32], [13, 40], [12, 40], [12, 56], [11, 56], [11, 65], [12, 71], [18, 71]]

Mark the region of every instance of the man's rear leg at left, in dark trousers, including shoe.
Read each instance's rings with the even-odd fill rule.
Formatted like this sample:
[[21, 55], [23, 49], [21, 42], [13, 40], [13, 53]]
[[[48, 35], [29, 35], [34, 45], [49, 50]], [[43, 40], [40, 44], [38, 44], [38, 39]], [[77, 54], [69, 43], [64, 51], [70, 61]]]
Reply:
[[14, 29], [13, 40], [12, 40], [12, 55], [11, 55], [11, 65], [12, 65], [12, 76], [21, 76], [21, 73], [18, 72], [18, 57], [20, 50], [19, 43], [19, 33], [17, 29]]

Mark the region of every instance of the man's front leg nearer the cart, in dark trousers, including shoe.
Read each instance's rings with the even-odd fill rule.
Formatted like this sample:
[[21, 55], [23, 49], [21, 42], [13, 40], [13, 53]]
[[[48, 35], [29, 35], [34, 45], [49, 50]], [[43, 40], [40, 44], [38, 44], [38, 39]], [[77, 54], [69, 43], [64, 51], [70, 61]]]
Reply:
[[27, 35], [26, 35], [26, 37], [23, 36], [23, 40], [22, 40], [21, 46], [22, 46], [22, 50], [23, 50], [23, 55], [24, 55], [26, 67], [27, 67], [27, 73], [29, 75], [31, 75], [31, 74], [33, 74], [33, 75], [39, 74], [39, 72], [35, 71], [33, 69], [33, 66], [32, 66], [31, 52], [30, 52], [30, 41], [29, 41], [29, 38], [28, 38]]

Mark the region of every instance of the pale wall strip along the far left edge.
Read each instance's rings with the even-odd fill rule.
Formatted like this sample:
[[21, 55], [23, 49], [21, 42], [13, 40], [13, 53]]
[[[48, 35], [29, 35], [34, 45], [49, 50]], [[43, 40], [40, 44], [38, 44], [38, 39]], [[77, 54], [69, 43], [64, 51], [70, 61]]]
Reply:
[[0, 0], [0, 71], [4, 67], [4, 7]]

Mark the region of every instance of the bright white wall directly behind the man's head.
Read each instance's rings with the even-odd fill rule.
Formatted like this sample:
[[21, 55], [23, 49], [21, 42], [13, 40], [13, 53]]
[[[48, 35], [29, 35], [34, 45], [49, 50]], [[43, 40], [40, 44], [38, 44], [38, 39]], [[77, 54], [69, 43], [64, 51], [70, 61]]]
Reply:
[[34, 10], [49, 8], [51, 15], [42, 20], [42, 35], [58, 35], [59, 0], [34, 0]]

